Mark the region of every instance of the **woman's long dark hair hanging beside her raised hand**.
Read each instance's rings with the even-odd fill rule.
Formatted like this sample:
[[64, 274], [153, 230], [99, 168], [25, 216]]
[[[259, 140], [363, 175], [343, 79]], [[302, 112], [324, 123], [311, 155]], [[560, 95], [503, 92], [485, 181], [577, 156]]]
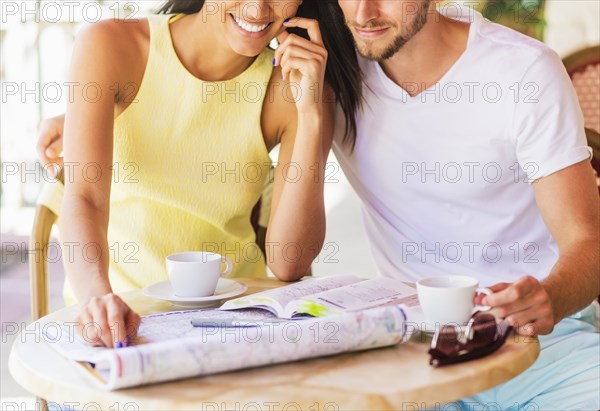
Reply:
[[[159, 14], [193, 14], [202, 10], [205, 0], [168, 0]], [[344, 143], [352, 149], [356, 143], [355, 114], [362, 103], [362, 75], [358, 66], [352, 34], [344, 23], [337, 0], [304, 0], [298, 8], [298, 17], [315, 19], [321, 27], [323, 43], [329, 53], [325, 81], [329, 83], [340, 104], [346, 123]], [[304, 38], [305, 30], [289, 29]]]

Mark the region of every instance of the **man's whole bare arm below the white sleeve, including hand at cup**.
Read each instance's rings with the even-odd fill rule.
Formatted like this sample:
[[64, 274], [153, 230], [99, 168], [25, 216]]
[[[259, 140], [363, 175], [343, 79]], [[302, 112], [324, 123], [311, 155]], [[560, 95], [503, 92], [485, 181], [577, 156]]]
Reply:
[[544, 222], [559, 248], [548, 277], [491, 287], [483, 299], [520, 334], [549, 334], [600, 294], [600, 204], [593, 170], [583, 161], [533, 184]]

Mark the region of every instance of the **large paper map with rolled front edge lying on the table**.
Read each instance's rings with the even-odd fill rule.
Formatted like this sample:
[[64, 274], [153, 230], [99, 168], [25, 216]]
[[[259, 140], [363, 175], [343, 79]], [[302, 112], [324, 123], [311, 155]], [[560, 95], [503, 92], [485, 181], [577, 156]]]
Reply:
[[[51, 344], [63, 355], [94, 362], [93, 380], [108, 390], [208, 375], [267, 364], [295, 361], [395, 345], [407, 339], [405, 310], [378, 307], [329, 318], [277, 320], [261, 310], [237, 319], [255, 327], [194, 327], [203, 318], [231, 319], [231, 312], [182, 311], [144, 317], [139, 339], [120, 349], [85, 347], [77, 340]], [[61, 334], [62, 336], [65, 333]], [[60, 349], [58, 348], [60, 347]], [[91, 375], [90, 367], [81, 367]]]

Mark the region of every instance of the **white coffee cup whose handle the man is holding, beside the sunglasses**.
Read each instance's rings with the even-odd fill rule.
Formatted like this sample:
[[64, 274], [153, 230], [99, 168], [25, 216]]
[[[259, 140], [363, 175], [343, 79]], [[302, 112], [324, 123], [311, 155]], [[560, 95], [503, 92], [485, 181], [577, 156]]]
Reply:
[[417, 294], [425, 321], [435, 324], [465, 324], [476, 311], [491, 307], [475, 305], [477, 294], [493, 294], [489, 288], [480, 288], [476, 278], [449, 275], [424, 278], [417, 281]]

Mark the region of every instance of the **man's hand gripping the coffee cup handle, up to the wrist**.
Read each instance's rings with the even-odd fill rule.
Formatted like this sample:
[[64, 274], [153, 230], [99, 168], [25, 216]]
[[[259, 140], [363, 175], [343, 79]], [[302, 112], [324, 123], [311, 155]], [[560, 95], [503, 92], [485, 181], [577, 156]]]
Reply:
[[499, 283], [489, 287], [494, 294], [478, 296], [478, 304], [492, 307], [490, 313], [505, 319], [521, 335], [550, 334], [555, 319], [548, 292], [534, 277], [521, 277], [512, 284]]

